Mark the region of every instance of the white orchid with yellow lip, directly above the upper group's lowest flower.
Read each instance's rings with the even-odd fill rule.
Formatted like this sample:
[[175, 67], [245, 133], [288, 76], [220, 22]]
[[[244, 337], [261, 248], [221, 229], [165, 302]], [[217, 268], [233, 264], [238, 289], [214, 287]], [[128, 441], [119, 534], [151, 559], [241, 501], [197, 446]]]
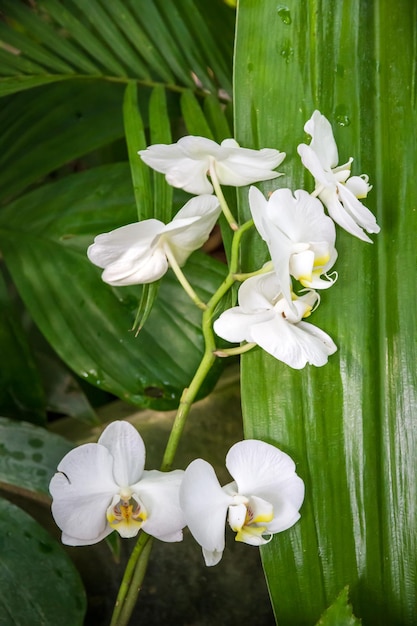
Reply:
[[337, 259], [336, 229], [317, 198], [301, 189], [294, 196], [290, 189], [277, 189], [266, 200], [259, 189], [251, 187], [249, 206], [288, 303], [292, 300], [290, 276], [308, 288], [333, 285], [336, 277], [327, 271]]

